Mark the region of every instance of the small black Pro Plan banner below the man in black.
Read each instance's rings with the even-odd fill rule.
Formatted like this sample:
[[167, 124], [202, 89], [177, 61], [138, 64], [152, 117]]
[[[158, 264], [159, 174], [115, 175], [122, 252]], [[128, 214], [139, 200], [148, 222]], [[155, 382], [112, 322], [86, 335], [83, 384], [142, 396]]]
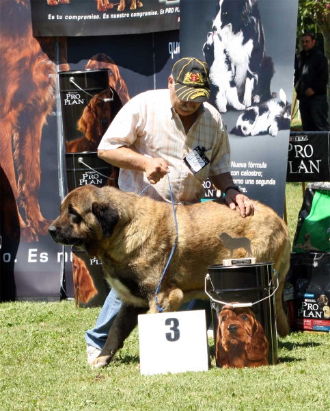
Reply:
[[330, 133], [290, 133], [286, 181], [330, 181]]

